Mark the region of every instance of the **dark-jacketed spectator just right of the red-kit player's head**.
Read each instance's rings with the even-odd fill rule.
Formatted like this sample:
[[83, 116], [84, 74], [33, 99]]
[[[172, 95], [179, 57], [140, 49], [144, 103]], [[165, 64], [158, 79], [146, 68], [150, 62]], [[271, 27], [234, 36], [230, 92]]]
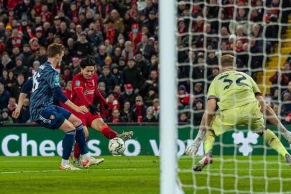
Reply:
[[104, 65], [102, 67], [102, 75], [100, 75], [98, 78], [98, 83], [100, 82], [105, 83], [106, 92], [113, 90], [114, 86], [118, 84], [116, 77], [110, 73], [108, 65]]

